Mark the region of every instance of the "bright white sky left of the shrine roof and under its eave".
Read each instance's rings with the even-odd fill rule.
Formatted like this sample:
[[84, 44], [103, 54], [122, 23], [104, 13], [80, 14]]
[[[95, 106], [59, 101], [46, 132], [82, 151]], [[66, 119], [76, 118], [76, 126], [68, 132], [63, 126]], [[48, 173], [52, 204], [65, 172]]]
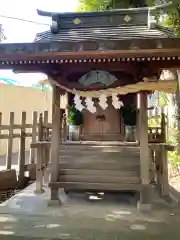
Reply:
[[[51, 18], [37, 15], [36, 9], [52, 12], [74, 12], [77, 8], [78, 0], [0, 0], [0, 23], [3, 25], [4, 34], [7, 38], [5, 42], [32, 42], [38, 32], [46, 31], [51, 24]], [[33, 24], [1, 16], [23, 18], [38, 23], [49, 25]], [[23, 85], [31, 85], [46, 78], [40, 74], [14, 74], [9, 70], [1, 70], [0, 78], [14, 79]]]

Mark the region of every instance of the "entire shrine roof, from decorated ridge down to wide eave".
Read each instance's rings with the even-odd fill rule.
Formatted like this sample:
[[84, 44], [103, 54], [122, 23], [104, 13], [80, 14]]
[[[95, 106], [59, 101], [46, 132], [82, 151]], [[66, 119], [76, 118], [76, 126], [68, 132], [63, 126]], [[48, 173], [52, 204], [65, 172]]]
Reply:
[[[154, 10], [153, 10], [154, 11]], [[180, 38], [156, 23], [149, 8], [98, 13], [49, 13], [50, 30], [32, 43], [0, 44], [0, 68], [42, 64], [162, 61], [179, 66]], [[167, 63], [168, 61], [168, 63]]]

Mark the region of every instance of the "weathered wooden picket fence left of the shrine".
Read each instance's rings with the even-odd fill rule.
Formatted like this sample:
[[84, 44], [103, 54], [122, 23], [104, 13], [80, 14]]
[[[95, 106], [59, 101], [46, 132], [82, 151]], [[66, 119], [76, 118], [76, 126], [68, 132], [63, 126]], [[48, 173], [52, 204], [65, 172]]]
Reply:
[[[36, 149], [28, 149], [30, 156], [26, 161], [26, 138], [31, 138], [32, 143], [37, 140], [48, 140], [51, 133], [51, 123], [48, 123], [48, 112], [39, 114], [35, 111], [32, 115], [32, 123], [27, 123], [26, 112], [21, 114], [21, 123], [15, 123], [15, 113], [11, 112], [9, 116], [9, 124], [2, 124], [3, 114], [0, 113], [0, 140], [7, 140], [6, 152], [6, 171], [11, 173], [13, 160], [13, 141], [19, 139], [18, 151], [18, 186], [23, 187], [25, 184], [25, 172], [29, 172], [29, 178], [35, 180], [35, 162]], [[2, 187], [0, 187], [2, 188]]]

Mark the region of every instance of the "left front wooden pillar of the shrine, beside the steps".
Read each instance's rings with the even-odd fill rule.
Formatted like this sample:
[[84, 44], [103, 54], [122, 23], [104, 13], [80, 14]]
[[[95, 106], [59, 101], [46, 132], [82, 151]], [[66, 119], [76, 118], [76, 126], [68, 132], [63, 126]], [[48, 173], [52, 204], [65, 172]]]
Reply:
[[59, 151], [61, 141], [61, 122], [60, 122], [60, 90], [53, 85], [52, 100], [52, 145], [51, 145], [51, 200], [56, 204], [59, 201], [59, 189], [53, 187], [53, 183], [59, 180]]

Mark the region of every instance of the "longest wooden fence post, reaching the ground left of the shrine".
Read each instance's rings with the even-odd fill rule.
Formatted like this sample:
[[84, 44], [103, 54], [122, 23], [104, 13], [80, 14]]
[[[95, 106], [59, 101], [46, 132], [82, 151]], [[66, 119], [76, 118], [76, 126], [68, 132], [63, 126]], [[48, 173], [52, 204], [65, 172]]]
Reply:
[[25, 140], [26, 140], [26, 112], [22, 112], [20, 149], [19, 149], [19, 187], [24, 186], [24, 167], [25, 167]]

